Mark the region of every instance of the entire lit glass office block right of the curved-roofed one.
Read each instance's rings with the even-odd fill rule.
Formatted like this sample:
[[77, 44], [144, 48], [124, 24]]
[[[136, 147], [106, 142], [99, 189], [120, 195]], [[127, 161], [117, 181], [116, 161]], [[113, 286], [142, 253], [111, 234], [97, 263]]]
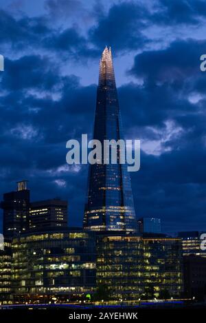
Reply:
[[111, 300], [180, 297], [182, 264], [180, 239], [98, 236], [97, 286]]

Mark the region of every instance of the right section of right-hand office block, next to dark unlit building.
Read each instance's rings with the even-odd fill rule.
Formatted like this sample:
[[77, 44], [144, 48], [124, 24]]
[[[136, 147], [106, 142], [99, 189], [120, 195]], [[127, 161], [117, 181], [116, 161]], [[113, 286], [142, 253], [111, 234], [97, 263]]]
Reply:
[[144, 297], [179, 298], [183, 292], [181, 239], [144, 238]]

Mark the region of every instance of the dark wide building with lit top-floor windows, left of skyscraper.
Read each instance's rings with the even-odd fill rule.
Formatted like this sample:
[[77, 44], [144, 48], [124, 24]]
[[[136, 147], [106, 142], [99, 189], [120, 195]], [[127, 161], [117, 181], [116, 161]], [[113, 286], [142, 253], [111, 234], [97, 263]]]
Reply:
[[67, 207], [65, 200], [52, 199], [32, 202], [30, 207], [30, 230], [47, 227], [67, 227]]

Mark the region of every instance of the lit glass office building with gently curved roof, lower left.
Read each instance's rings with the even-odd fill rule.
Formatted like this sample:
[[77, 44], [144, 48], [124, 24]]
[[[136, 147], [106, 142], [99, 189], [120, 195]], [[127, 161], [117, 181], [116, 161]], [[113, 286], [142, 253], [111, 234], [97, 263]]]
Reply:
[[15, 301], [80, 297], [95, 289], [95, 238], [92, 232], [30, 233], [12, 242]]

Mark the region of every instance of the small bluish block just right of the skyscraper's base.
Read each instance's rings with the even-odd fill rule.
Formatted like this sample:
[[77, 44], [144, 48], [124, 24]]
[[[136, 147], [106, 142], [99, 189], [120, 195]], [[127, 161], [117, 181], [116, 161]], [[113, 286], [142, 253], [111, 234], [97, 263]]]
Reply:
[[161, 220], [159, 218], [140, 218], [138, 227], [141, 233], [161, 233]]

